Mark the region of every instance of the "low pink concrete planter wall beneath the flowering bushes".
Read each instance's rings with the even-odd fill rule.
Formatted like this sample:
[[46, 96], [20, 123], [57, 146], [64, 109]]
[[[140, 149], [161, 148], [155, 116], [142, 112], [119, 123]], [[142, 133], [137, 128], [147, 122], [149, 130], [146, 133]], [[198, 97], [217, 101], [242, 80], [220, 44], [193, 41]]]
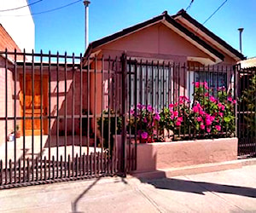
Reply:
[[237, 159], [237, 138], [137, 145], [137, 171], [219, 163]]

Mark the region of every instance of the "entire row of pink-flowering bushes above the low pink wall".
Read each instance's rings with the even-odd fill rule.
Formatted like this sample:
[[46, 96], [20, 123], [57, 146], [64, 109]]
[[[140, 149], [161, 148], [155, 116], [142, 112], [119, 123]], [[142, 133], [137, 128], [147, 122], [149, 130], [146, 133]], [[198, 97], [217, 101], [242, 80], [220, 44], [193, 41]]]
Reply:
[[228, 94], [225, 88], [210, 89], [207, 82], [195, 82], [194, 88], [193, 100], [180, 96], [161, 112], [138, 104], [130, 112], [132, 132], [144, 140], [156, 135], [159, 138], [164, 130], [171, 131], [176, 140], [233, 136], [236, 100], [231, 91]]

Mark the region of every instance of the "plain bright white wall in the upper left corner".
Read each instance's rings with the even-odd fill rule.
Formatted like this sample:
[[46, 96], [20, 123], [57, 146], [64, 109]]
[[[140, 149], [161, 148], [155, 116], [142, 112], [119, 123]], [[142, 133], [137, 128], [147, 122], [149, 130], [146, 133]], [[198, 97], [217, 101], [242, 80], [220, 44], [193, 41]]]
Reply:
[[[0, 10], [15, 9], [27, 4], [26, 0], [0, 0]], [[23, 14], [28, 15], [19, 16]], [[0, 23], [22, 51], [26, 49], [26, 52], [31, 52], [35, 48], [35, 25], [29, 7], [0, 11]]]

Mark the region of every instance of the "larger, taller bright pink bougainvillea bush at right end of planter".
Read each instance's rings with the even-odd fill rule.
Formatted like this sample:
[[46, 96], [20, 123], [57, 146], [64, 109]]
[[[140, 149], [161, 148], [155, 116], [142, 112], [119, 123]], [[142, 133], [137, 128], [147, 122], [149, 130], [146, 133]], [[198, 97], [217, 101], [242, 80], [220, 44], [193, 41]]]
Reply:
[[195, 83], [194, 102], [189, 119], [195, 135], [231, 136], [235, 131], [236, 100], [225, 88], [213, 90], [207, 83]]

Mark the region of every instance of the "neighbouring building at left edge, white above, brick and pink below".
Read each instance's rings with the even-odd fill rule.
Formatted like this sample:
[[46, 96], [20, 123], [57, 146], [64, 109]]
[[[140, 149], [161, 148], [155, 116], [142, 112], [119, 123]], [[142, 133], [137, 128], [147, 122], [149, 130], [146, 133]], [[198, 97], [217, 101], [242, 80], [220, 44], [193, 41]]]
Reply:
[[[35, 26], [26, 0], [0, 0], [0, 51], [31, 52], [35, 47]], [[15, 97], [19, 95], [19, 76], [15, 79], [15, 60], [23, 60], [22, 55], [0, 55], [0, 118], [5, 118], [5, 102], [8, 103], [8, 117], [15, 115]], [[26, 56], [26, 60], [30, 57]], [[5, 68], [6, 67], [6, 68]], [[16, 82], [16, 83], [15, 83]], [[16, 94], [15, 94], [16, 84]], [[5, 85], [7, 85], [7, 90]], [[20, 116], [20, 105], [17, 100], [16, 115]], [[20, 125], [20, 122], [17, 122]], [[8, 134], [15, 130], [14, 122], [8, 121]], [[0, 145], [5, 141], [5, 121], [0, 120]]]

